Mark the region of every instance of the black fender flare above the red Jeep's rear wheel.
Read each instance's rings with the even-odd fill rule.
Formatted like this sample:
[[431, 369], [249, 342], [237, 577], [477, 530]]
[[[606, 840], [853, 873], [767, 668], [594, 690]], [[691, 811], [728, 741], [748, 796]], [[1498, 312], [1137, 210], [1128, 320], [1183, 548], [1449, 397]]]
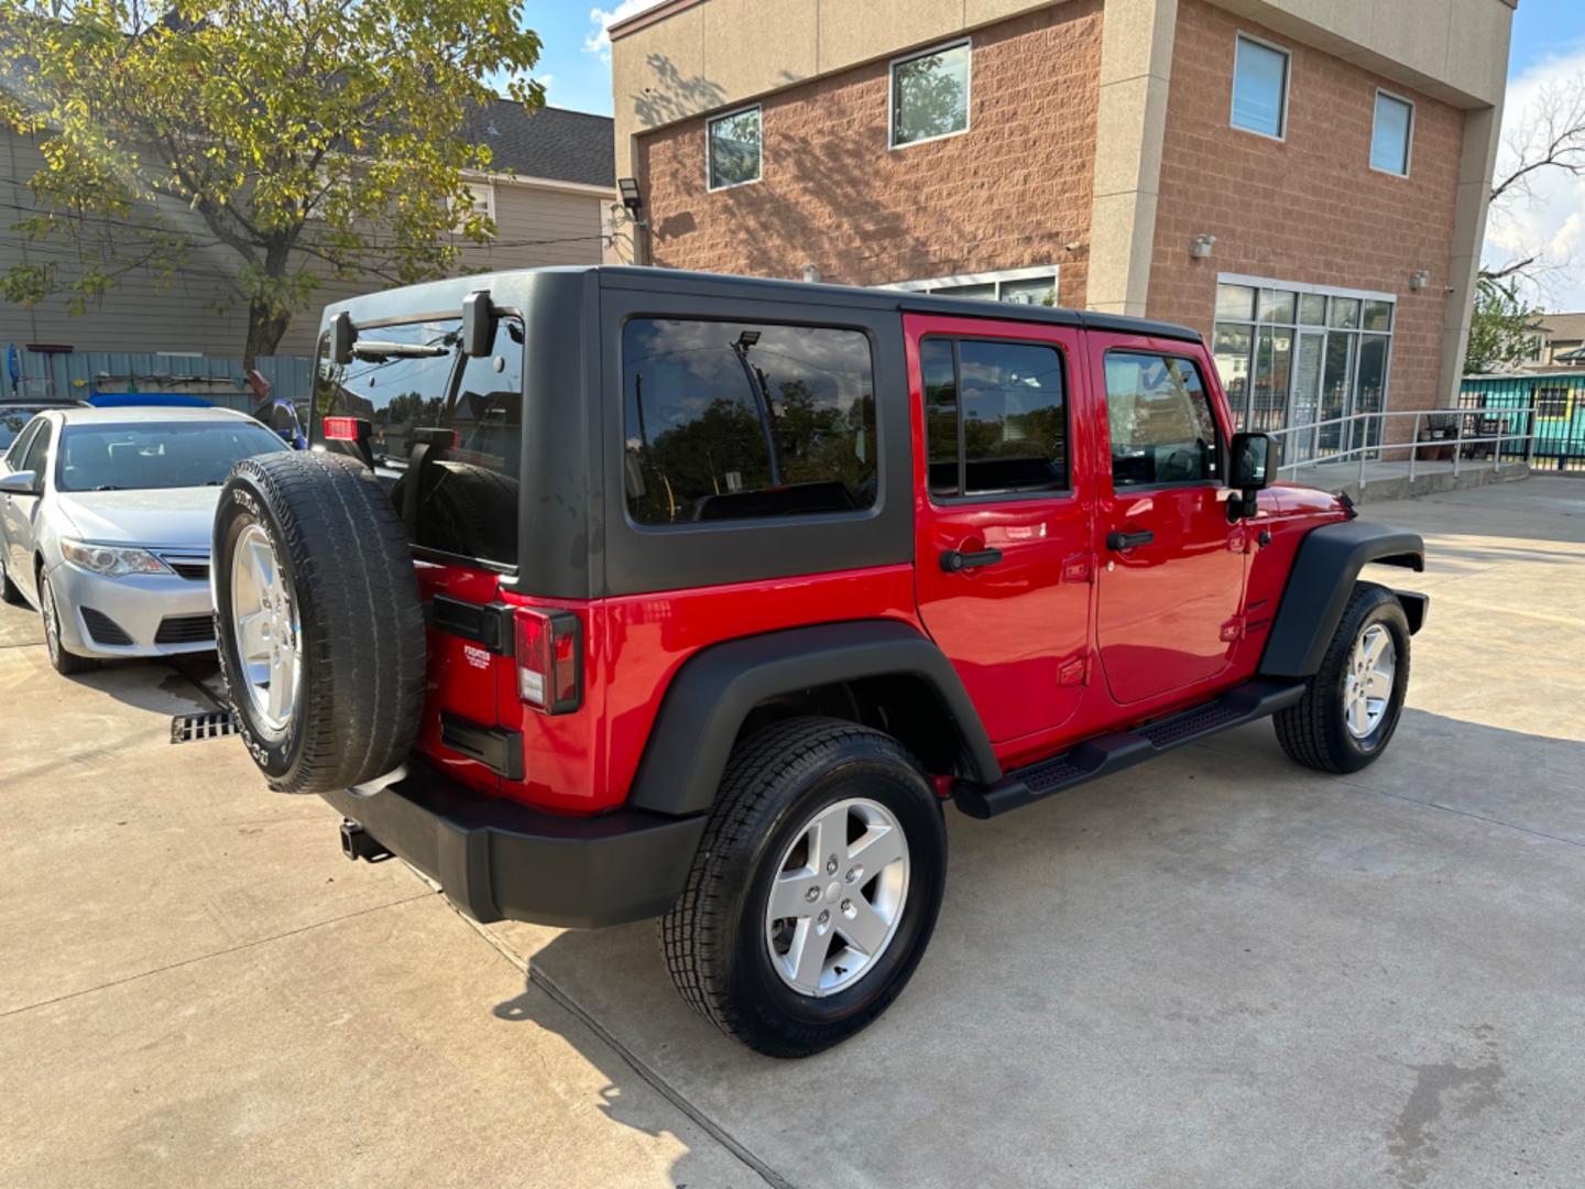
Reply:
[[702, 648], [677, 671], [650, 729], [628, 804], [656, 813], [704, 813], [748, 712], [767, 698], [861, 677], [924, 680], [956, 723], [973, 775], [1002, 767], [962, 680], [924, 634], [894, 620], [854, 620], [766, 633]]

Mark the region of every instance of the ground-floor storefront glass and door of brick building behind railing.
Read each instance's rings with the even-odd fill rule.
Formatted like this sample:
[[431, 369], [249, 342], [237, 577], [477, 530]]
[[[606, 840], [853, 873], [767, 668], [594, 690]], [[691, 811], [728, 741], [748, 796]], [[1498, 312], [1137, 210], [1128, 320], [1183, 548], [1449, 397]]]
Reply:
[[1341, 419], [1387, 407], [1396, 304], [1385, 293], [1222, 276], [1211, 354], [1241, 430], [1284, 438], [1285, 461], [1381, 438], [1381, 420]]

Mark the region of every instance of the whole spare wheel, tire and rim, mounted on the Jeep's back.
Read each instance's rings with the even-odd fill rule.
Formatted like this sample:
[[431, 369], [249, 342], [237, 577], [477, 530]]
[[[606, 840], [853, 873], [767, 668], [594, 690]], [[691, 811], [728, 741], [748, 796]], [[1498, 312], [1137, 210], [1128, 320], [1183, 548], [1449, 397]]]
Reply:
[[374, 780], [407, 758], [425, 628], [407, 534], [366, 468], [325, 453], [238, 463], [211, 561], [216, 648], [254, 761], [282, 793]]

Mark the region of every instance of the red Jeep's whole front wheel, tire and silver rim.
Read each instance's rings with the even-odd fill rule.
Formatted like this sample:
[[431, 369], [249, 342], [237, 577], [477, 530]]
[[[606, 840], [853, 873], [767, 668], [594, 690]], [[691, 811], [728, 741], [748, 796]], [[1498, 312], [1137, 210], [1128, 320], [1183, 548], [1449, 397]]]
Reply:
[[1385, 587], [1360, 582], [1304, 696], [1273, 720], [1289, 758], [1358, 772], [1387, 750], [1409, 690], [1409, 620]]

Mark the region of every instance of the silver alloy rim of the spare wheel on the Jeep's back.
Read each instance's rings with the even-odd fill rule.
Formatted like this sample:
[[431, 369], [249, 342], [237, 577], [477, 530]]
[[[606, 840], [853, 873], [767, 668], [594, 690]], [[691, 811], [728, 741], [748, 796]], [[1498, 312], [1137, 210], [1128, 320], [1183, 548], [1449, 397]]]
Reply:
[[231, 553], [231, 625], [238, 683], [265, 732], [281, 739], [298, 701], [301, 626], [274, 545], [258, 523], [243, 528]]

